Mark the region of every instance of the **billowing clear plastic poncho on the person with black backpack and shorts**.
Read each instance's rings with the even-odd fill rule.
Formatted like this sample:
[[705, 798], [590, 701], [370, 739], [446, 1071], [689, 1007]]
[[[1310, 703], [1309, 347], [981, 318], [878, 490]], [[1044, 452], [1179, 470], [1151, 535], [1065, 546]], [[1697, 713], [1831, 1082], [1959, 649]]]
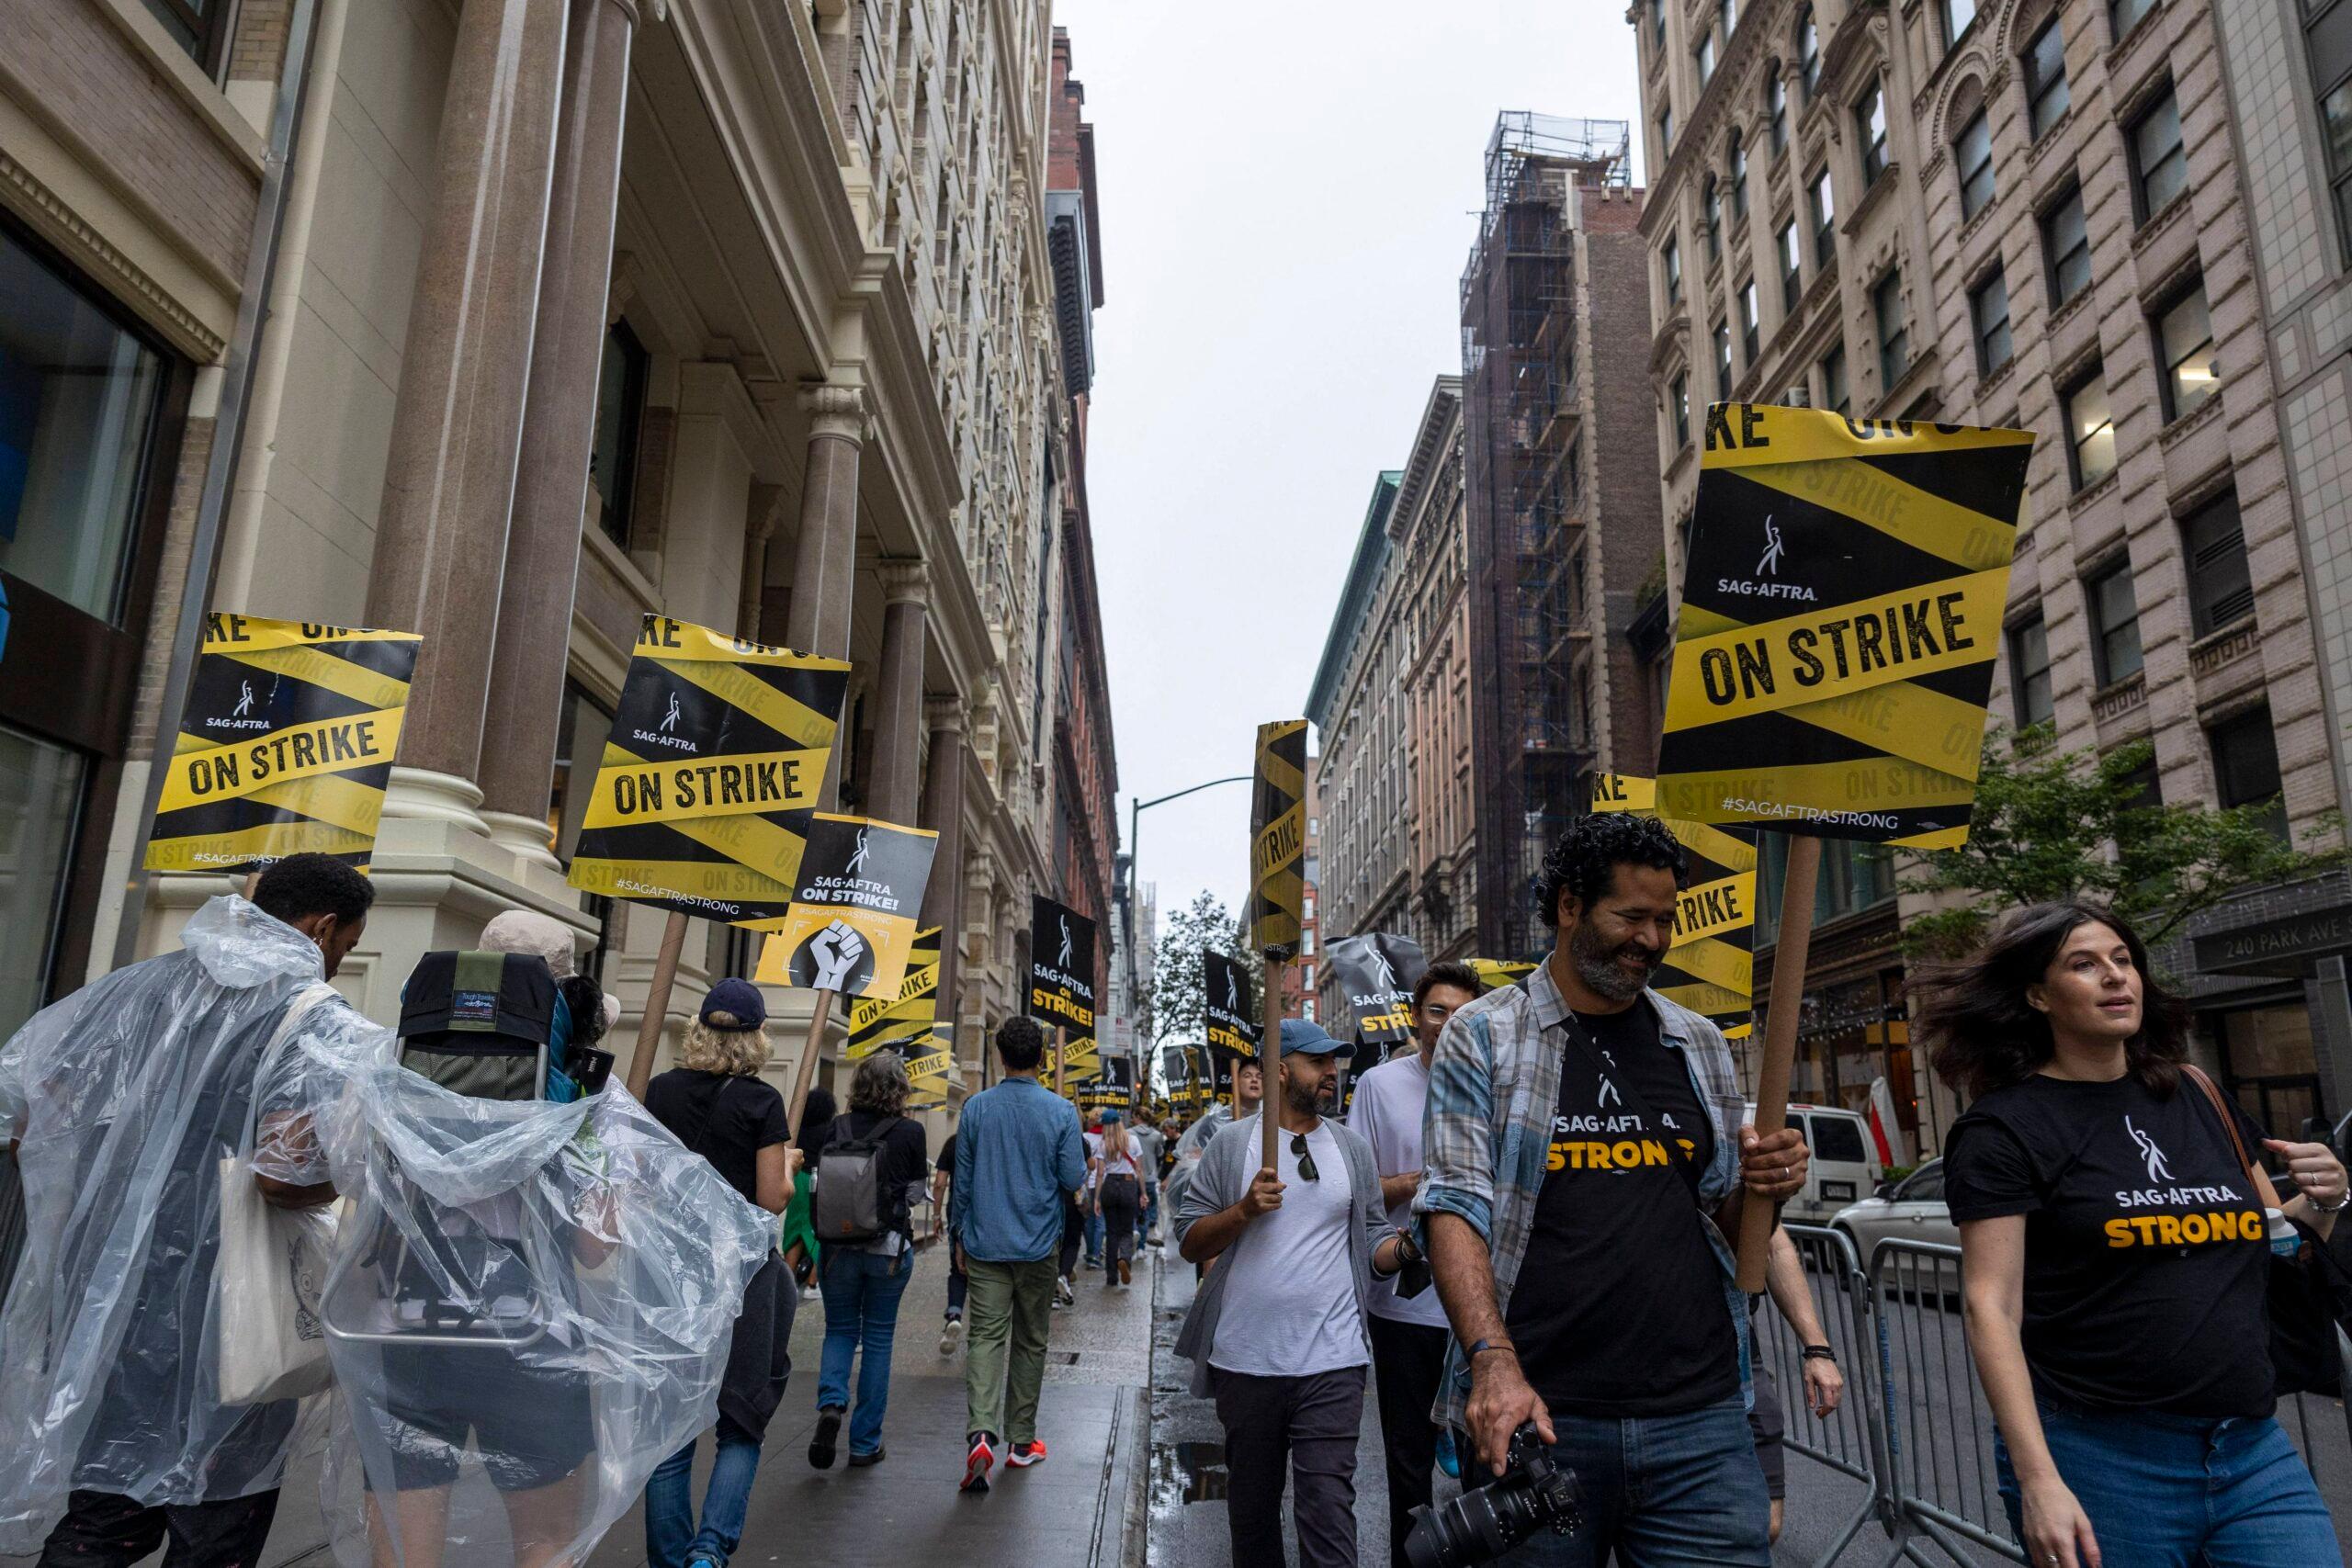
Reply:
[[771, 1215], [619, 1086], [475, 1100], [334, 1041], [296, 1072], [310, 1124], [256, 1166], [322, 1152], [348, 1199], [320, 1302], [336, 1556], [586, 1561], [710, 1425]]

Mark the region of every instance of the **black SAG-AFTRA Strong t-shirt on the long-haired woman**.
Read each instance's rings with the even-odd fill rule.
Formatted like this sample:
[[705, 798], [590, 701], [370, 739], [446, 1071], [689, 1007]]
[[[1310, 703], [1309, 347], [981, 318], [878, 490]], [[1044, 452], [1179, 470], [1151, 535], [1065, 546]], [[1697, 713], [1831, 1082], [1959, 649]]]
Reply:
[[[2234, 1112], [2246, 1150], [2263, 1131]], [[2025, 1363], [2063, 1403], [2272, 1410], [2263, 1199], [2194, 1084], [2034, 1074], [1945, 1138], [1955, 1220], [2025, 1215]]]

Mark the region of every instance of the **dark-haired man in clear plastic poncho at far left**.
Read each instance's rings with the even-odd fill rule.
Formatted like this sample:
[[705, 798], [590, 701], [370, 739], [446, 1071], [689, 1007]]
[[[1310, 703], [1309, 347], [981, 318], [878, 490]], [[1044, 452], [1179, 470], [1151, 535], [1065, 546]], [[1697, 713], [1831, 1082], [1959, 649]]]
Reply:
[[[256, 1121], [303, 1145], [280, 1070], [296, 1041], [346, 1053], [383, 1034], [325, 990], [369, 898], [327, 856], [282, 860], [252, 903], [198, 910], [181, 952], [0, 1046], [0, 1143], [16, 1143], [26, 1204], [0, 1312], [0, 1554], [127, 1566], [167, 1530], [191, 1566], [259, 1554], [318, 1401], [219, 1396], [221, 1192], [247, 1180], [221, 1164]], [[287, 1211], [334, 1199], [315, 1150], [252, 1180]]]

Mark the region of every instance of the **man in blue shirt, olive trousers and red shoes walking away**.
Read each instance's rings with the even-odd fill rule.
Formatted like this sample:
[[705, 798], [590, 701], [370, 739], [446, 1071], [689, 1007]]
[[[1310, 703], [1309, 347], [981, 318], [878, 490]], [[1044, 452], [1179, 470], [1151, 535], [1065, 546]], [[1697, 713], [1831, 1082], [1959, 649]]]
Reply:
[[964, 1352], [962, 1490], [985, 1493], [988, 1472], [1044, 1458], [1037, 1441], [1037, 1387], [1054, 1321], [1054, 1253], [1068, 1194], [1087, 1180], [1077, 1112], [1037, 1081], [1044, 1030], [1033, 1018], [997, 1027], [1004, 1081], [964, 1103], [955, 1126], [955, 1185], [948, 1234], [964, 1260], [969, 1347]]

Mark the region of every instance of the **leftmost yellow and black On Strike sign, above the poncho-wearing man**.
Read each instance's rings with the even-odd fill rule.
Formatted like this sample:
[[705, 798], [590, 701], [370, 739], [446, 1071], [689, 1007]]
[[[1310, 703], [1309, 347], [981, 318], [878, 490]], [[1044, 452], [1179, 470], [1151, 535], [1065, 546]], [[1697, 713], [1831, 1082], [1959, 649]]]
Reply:
[[242, 872], [327, 853], [365, 872], [419, 644], [416, 632], [205, 616], [146, 867]]

